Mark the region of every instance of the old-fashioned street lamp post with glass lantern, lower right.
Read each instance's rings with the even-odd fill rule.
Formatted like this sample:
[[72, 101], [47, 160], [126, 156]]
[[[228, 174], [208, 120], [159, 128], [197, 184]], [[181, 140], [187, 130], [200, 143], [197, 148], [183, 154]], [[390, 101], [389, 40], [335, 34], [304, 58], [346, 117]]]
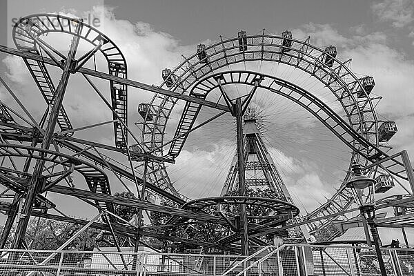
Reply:
[[353, 164], [353, 177], [346, 183], [346, 188], [351, 188], [356, 203], [361, 211], [361, 216], [366, 218], [367, 224], [371, 228], [375, 251], [377, 252], [378, 263], [380, 264], [381, 275], [386, 276], [384, 260], [382, 259], [380, 244], [378, 242], [378, 232], [375, 226], [375, 199], [374, 185], [375, 179], [366, 177], [362, 174], [362, 166]]

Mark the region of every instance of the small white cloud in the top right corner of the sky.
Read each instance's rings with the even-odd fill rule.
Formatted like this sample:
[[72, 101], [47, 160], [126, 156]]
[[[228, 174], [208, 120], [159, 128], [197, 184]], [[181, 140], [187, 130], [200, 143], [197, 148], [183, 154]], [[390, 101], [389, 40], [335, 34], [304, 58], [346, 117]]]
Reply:
[[402, 28], [414, 21], [414, 3], [411, 0], [385, 0], [371, 6], [382, 21], [391, 21], [395, 28]]

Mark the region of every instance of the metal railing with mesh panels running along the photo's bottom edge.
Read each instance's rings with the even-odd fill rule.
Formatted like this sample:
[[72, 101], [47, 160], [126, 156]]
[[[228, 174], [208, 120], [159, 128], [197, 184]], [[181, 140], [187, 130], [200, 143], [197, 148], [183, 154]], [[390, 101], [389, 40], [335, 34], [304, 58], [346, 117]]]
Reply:
[[[307, 250], [303, 250], [306, 248]], [[357, 249], [361, 248], [361, 252], [357, 252], [357, 250], [350, 250], [350, 249]], [[295, 249], [295, 255], [293, 255], [293, 250]], [[328, 249], [333, 249], [328, 250]], [[341, 249], [341, 250], [337, 250]], [[285, 250], [289, 252], [286, 254], [284, 253]], [[346, 251], [345, 251], [346, 250]], [[48, 265], [44, 264], [42, 259], [47, 257], [46, 255], [50, 255], [52, 250], [13, 250], [13, 249], [3, 249], [3, 256], [9, 255], [12, 253], [26, 253], [32, 254], [36, 262], [30, 262], [30, 256], [26, 255], [25, 258], [21, 259], [21, 262], [14, 262], [12, 259], [8, 259], [8, 257], [3, 259], [3, 262], [0, 262], [0, 274], [3, 275], [3, 272], [8, 272], [10, 270], [15, 270], [19, 273], [24, 272], [25, 275], [30, 275], [34, 273], [34, 271], [38, 273], [48, 272], [52, 273], [53, 275], [61, 275], [64, 271], [78, 271], [79, 273], [101, 273], [105, 271], [106, 274], [117, 274], [120, 270], [124, 267], [119, 257], [112, 256], [103, 259], [100, 257], [106, 257], [109, 253], [115, 255], [129, 255], [129, 259], [132, 259], [132, 256], [137, 256], [137, 266], [129, 270], [128, 273], [130, 275], [146, 275], [151, 273], [151, 275], [176, 275], [181, 271], [181, 267], [185, 269], [181, 271], [180, 274], [186, 273], [186, 275], [190, 276], [197, 276], [197, 275], [205, 275], [205, 276], [243, 276], [247, 275], [248, 273], [253, 273], [257, 275], [264, 275], [267, 273], [273, 275], [282, 275], [283, 273], [293, 273], [299, 275], [299, 271], [304, 270], [305, 274], [309, 273], [309, 275], [313, 275], [315, 273], [316, 266], [321, 266], [326, 270], [328, 273], [333, 273], [334, 270], [337, 271], [340, 269], [342, 273], [348, 275], [356, 275], [355, 273], [360, 271], [362, 265], [366, 264], [366, 259], [368, 261], [372, 261], [372, 258], [375, 257], [375, 252], [373, 247], [366, 247], [366, 246], [339, 246], [339, 245], [310, 245], [310, 244], [284, 244], [282, 246], [264, 246], [263, 248], [259, 249], [256, 253], [250, 256], [240, 256], [240, 255], [205, 255], [208, 257], [208, 264], [206, 266], [203, 265], [204, 268], [201, 268], [201, 271], [196, 271], [193, 269], [193, 265], [190, 263], [192, 259], [197, 259], [197, 254], [182, 254], [182, 253], [152, 253], [152, 252], [117, 252], [117, 251], [76, 251], [76, 250], [56, 250], [54, 253], [61, 254], [60, 261], [59, 258], [55, 258], [54, 262], [49, 263]], [[333, 262], [335, 267], [331, 264], [326, 264], [324, 262], [324, 257], [322, 255], [319, 257], [319, 251], [324, 252], [329, 258], [329, 263]], [[401, 252], [400, 252], [401, 251]], [[312, 255], [309, 256], [308, 253]], [[37, 253], [47, 253], [46, 255]], [[63, 255], [69, 253], [69, 257], [63, 262]], [[70, 253], [78, 253], [79, 256], [71, 256]], [[79, 266], [79, 262], [77, 260], [84, 260], [85, 256], [82, 253], [92, 254], [93, 257], [88, 263], [89, 266], [86, 266], [86, 263], [81, 263]], [[401, 271], [402, 266], [405, 264], [411, 264], [414, 258], [414, 249], [413, 248], [385, 248], [382, 247], [382, 255], [390, 256], [391, 257], [391, 264], [388, 266], [390, 269], [393, 270], [393, 273], [397, 273], [397, 271]], [[302, 256], [299, 257], [300, 254]], [[82, 256], [80, 256], [82, 255]], [[97, 256], [95, 256], [97, 255]], [[157, 256], [156, 258], [152, 258], [150, 256]], [[172, 263], [168, 264], [165, 268], [159, 270], [159, 265], [161, 264], [161, 256], [168, 255], [172, 259]], [[359, 264], [354, 263], [355, 257], [359, 255], [360, 262]], [[21, 256], [21, 255], [20, 255]], [[404, 257], [402, 257], [404, 256]], [[230, 257], [230, 264], [228, 262], [228, 258]], [[235, 258], [235, 259], [233, 259]], [[255, 259], [253, 259], [255, 258]], [[242, 260], [240, 260], [242, 259]], [[188, 260], [190, 266], [186, 266], [185, 260]], [[12, 262], [9, 262], [12, 261]], [[76, 261], [76, 262], [75, 262]], [[37, 262], [41, 262], [40, 264]], [[59, 265], [58, 265], [59, 262]], [[211, 268], [211, 262], [213, 262], [213, 270]], [[309, 263], [311, 262], [311, 263]], [[344, 262], [344, 263], [342, 263]], [[310, 264], [308, 266], [308, 264]], [[392, 265], [392, 267], [391, 267]], [[112, 266], [112, 267], [111, 267]], [[128, 263], [129, 266], [132, 268], [132, 263]], [[171, 267], [170, 267], [171, 266]], [[218, 269], [218, 270], [217, 270]], [[410, 268], [409, 273], [413, 270]], [[55, 274], [56, 273], [56, 274]], [[409, 274], [408, 273], [408, 274]], [[412, 273], [411, 273], [412, 274]], [[306, 274], [307, 275], [307, 274]], [[336, 274], [335, 274], [336, 275]]]

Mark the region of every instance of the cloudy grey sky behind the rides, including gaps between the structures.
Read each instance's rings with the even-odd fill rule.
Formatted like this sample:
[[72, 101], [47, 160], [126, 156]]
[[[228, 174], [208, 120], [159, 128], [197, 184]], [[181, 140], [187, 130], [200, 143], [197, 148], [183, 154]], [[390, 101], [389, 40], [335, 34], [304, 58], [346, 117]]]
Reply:
[[[182, 60], [181, 55], [193, 54], [198, 43], [213, 43], [219, 35], [235, 37], [239, 30], [246, 30], [248, 34], [262, 33], [263, 29], [272, 34], [291, 30], [293, 37], [306, 39], [310, 36], [311, 43], [321, 48], [335, 45], [339, 59], [352, 58], [351, 69], [357, 76], [375, 78], [373, 93], [382, 97], [376, 111], [380, 119], [396, 121], [399, 129], [389, 144], [393, 146], [393, 152], [408, 150], [414, 160], [414, 3], [411, 0], [33, 2], [1, 3], [1, 10], [7, 10], [2, 24], [8, 26], [7, 30], [1, 28], [1, 44], [14, 47], [10, 39], [12, 20], [27, 14], [61, 12], [86, 19], [97, 17], [100, 23], [97, 28], [124, 52], [128, 77], [156, 85], [161, 83], [161, 70], [175, 68]], [[4, 18], [8, 21], [4, 22]], [[53, 41], [51, 37], [46, 39]], [[53, 41], [62, 52], [66, 50], [67, 42], [63, 38]], [[23, 61], [3, 54], [0, 59], [1, 77], [30, 112], [41, 117], [46, 106]], [[247, 66], [297, 83], [319, 93], [320, 97], [326, 95], [314, 79], [287, 66], [268, 63]], [[99, 57], [97, 67], [105, 70]], [[52, 70], [52, 75], [59, 79], [59, 72]], [[107, 84], [97, 81], [97, 85], [108, 96]], [[264, 91], [259, 92], [266, 95]], [[152, 96], [149, 92], [129, 90], [129, 124], [137, 136], [140, 135], [139, 128], [133, 125], [141, 120], [136, 112], [137, 104], [149, 101]], [[0, 88], [0, 98], [10, 106], [16, 106], [3, 87]], [[265, 141], [279, 172], [302, 211], [313, 210], [340, 185], [344, 170], [348, 168], [349, 149], [292, 103], [273, 95], [258, 96], [255, 100], [263, 112]], [[261, 105], [261, 101], [266, 104]], [[75, 127], [111, 118], [108, 110], [103, 111], [105, 108], [97, 95], [78, 76], [71, 77], [64, 104]], [[175, 130], [180, 106], [182, 103], [173, 112], [168, 135]], [[334, 101], [331, 107], [339, 108]], [[199, 122], [214, 114], [204, 108]], [[112, 142], [110, 126], [96, 128], [93, 133], [79, 133], [79, 137], [86, 139]], [[217, 195], [234, 154], [234, 137], [231, 117], [222, 117], [194, 132], [177, 158], [177, 164], [168, 167], [177, 190], [192, 198]], [[114, 192], [122, 189], [115, 177], [110, 176], [110, 179], [113, 179]], [[397, 193], [399, 188], [395, 190]], [[68, 199], [61, 201], [61, 208], [69, 211], [69, 204], [64, 204]], [[82, 215], [88, 217], [93, 212], [85, 211]]]

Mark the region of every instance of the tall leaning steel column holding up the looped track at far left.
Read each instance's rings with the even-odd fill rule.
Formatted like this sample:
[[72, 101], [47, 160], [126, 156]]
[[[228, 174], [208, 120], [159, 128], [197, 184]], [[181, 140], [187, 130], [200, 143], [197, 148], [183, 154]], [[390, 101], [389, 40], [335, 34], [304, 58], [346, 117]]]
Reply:
[[[79, 21], [82, 21], [82, 19], [79, 19]], [[77, 32], [77, 34], [80, 34], [81, 29], [82, 23], [77, 23], [75, 32]], [[63, 63], [63, 72], [61, 75], [61, 80], [59, 81], [59, 85], [56, 88], [54, 97], [55, 101], [52, 105], [52, 110], [50, 112], [50, 118], [46, 126], [46, 131], [41, 144], [41, 149], [48, 150], [50, 147], [53, 132], [55, 132], [55, 127], [57, 124], [59, 110], [63, 102], [63, 96], [65, 95], [66, 86], [68, 86], [68, 80], [70, 77], [70, 72], [73, 67], [73, 62], [75, 61], [75, 55], [77, 52], [78, 45], [79, 36], [74, 35], [72, 43], [70, 44], [68, 57]], [[12, 248], [14, 249], [18, 249], [21, 246], [21, 242], [23, 241], [23, 237], [26, 233], [26, 228], [30, 220], [30, 214], [32, 213], [34, 198], [36, 197], [37, 193], [39, 193], [39, 190], [42, 185], [41, 178], [43, 166], [45, 165], [45, 160], [43, 158], [46, 157], [46, 154], [44, 152], [41, 152], [40, 156], [41, 159], [37, 159], [36, 165], [34, 166], [32, 177], [30, 178], [30, 181], [28, 183], [28, 192], [26, 195], [26, 200], [24, 201], [23, 210], [21, 212], [21, 219], [19, 220], [19, 224], [17, 224], [16, 234], [14, 235], [13, 239]]]

